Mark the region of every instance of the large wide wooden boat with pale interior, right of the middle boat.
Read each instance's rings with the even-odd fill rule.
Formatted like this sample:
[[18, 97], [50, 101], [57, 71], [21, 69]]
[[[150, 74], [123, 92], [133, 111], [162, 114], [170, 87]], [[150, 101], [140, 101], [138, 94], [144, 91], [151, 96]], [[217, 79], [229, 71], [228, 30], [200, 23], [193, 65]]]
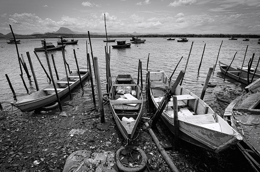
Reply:
[[[150, 94], [157, 109], [169, 89], [164, 71], [150, 72]], [[171, 82], [173, 85], [173, 82]], [[178, 100], [179, 137], [191, 144], [220, 152], [242, 140], [242, 136], [218, 116], [203, 100], [178, 85], [175, 90]], [[161, 114], [165, 126], [175, 133], [173, 102], [169, 101]]]

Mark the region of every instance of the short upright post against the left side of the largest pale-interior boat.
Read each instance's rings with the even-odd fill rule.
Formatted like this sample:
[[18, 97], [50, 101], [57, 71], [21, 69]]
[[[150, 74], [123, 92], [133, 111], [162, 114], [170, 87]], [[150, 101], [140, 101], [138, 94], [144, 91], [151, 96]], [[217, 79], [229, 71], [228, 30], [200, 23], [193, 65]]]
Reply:
[[174, 138], [175, 138], [175, 150], [179, 151], [179, 120], [178, 120], [178, 101], [176, 96], [172, 96], [174, 103]]

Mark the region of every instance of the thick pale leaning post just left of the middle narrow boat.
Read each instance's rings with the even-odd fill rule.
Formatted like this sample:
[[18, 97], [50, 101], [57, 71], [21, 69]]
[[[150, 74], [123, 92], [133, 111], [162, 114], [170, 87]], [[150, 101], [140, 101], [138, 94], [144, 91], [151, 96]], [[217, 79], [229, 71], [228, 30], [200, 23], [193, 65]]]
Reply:
[[97, 89], [98, 89], [98, 101], [99, 101], [99, 110], [100, 110], [100, 122], [105, 122], [105, 115], [104, 115], [104, 108], [103, 108], [103, 95], [101, 90], [101, 82], [100, 82], [100, 75], [99, 75], [99, 68], [98, 68], [98, 58], [94, 57], [94, 66], [96, 70], [96, 81], [97, 81]]

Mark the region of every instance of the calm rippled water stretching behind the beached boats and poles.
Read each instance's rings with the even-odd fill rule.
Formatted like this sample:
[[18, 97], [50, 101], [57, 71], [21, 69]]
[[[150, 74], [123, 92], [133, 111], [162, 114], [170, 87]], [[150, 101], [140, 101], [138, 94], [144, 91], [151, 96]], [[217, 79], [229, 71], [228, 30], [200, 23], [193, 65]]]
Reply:
[[[131, 38], [117, 38], [117, 40], [126, 40], [130, 42]], [[144, 44], [132, 44], [131, 48], [126, 49], [110, 49], [110, 68], [111, 68], [111, 77], [113, 79], [119, 74], [131, 74], [134, 79], [137, 80], [138, 74], [138, 61], [142, 62], [142, 73], [143, 73], [143, 84], [145, 85], [146, 80], [146, 68], [148, 61], [148, 54], [150, 53], [149, 67], [150, 71], [164, 70], [165, 73], [170, 76], [172, 71], [174, 71], [177, 63], [183, 56], [181, 63], [179, 64], [174, 78], [178, 76], [181, 70], [185, 69], [188, 55], [190, 52], [191, 44], [193, 41], [193, 46], [186, 69], [186, 74], [183, 80], [183, 86], [193, 91], [195, 94], [200, 95], [200, 92], [203, 89], [207, 73], [210, 67], [213, 67], [216, 63], [219, 47], [221, 41], [223, 41], [218, 60], [230, 64], [235, 53], [236, 58], [232, 64], [233, 67], [241, 67], [246, 47], [248, 45], [245, 65], [248, 63], [249, 59], [252, 57], [252, 54], [255, 53], [253, 66], [256, 66], [259, 55], [260, 55], [260, 44], [257, 44], [257, 39], [250, 39], [250, 41], [242, 41], [242, 38], [239, 38], [237, 41], [230, 41], [228, 38], [188, 38], [189, 41], [186, 43], [179, 43], [177, 39], [175, 41], [167, 41], [163, 38], [144, 38], [146, 42]], [[98, 57], [99, 70], [100, 70], [100, 79], [102, 82], [102, 90], [106, 92], [106, 71], [105, 71], [105, 46], [106, 43], [103, 42], [105, 38], [91, 38], [93, 55]], [[47, 39], [48, 42], [52, 42], [56, 45], [57, 39]], [[88, 41], [88, 44], [86, 44]], [[108, 43], [108, 46], [114, 45], [116, 42]], [[198, 67], [203, 54], [204, 46], [205, 52], [203, 56], [203, 62], [201, 64], [199, 73]], [[47, 77], [40, 66], [39, 61], [34, 54], [34, 48], [41, 47], [40, 39], [21, 39], [21, 44], [18, 44], [19, 54], [23, 54], [24, 60], [26, 62], [27, 68], [31, 69], [28, 63], [26, 52], [30, 53], [36, 77], [38, 80], [39, 88], [43, 88], [48, 84]], [[74, 58], [73, 49], [76, 51], [77, 61], [79, 67], [86, 67], [86, 47], [88, 47], [88, 52], [91, 53], [89, 39], [88, 38], [79, 38], [77, 45], [67, 45], [65, 48], [66, 61], [70, 65], [70, 70], [76, 70], [76, 63]], [[48, 71], [46, 56], [44, 52], [37, 52], [42, 64]], [[65, 77], [65, 67], [63, 62], [63, 56], [61, 51], [49, 51], [50, 63], [51, 54], [53, 54], [55, 59], [55, 65], [57, 67], [59, 77]], [[21, 55], [20, 55], [21, 56]], [[22, 80], [20, 78], [20, 68], [17, 58], [17, 52], [15, 45], [7, 44], [6, 40], [0, 40], [0, 69], [1, 77], [3, 78], [0, 82], [0, 102], [5, 110], [10, 110], [11, 105], [9, 102], [13, 101], [13, 94], [7, 82], [5, 74], [8, 74], [10, 81], [13, 85], [14, 91], [16, 93], [17, 99], [21, 98], [26, 94], [26, 90], [23, 86]], [[54, 69], [53, 72], [54, 74]], [[94, 74], [94, 71], [93, 71]], [[27, 79], [26, 73], [23, 71], [23, 78], [26, 82], [27, 88], [30, 91], [35, 91], [34, 79], [33, 82], [30, 82]], [[55, 76], [54, 76], [54, 79]], [[210, 82], [217, 84], [225, 84], [223, 82], [223, 75], [220, 72], [219, 66], [217, 64], [215, 72], [211, 77]], [[234, 80], [226, 79], [225, 82], [234, 82]]]

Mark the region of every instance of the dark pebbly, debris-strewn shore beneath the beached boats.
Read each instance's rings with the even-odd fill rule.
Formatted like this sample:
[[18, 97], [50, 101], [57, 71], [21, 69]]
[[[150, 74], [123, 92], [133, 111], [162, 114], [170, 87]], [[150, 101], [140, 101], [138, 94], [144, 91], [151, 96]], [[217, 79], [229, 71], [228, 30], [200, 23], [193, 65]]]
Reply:
[[[239, 85], [217, 85], [207, 90], [205, 101], [222, 116], [227, 102], [242, 92]], [[126, 145], [109, 106], [104, 102], [105, 124], [100, 123], [99, 113], [92, 110], [88, 83], [85, 83], [84, 91], [77, 88], [72, 92], [72, 99], [69, 97], [62, 99], [62, 113], [58, 109], [48, 112], [20, 112], [15, 108], [12, 112], [1, 111], [0, 171], [63, 171], [66, 158], [74, 151], [115, 152]], [[151, 118], [147, 109], [143, 117]], [[149, 132], [143, 128], [145, 122], [147, 119], [141, 119], [131, 144], [148, 155], [146, 171], [170, 171]], [[169, 141], [174, 148], [174, 135], [161, 121], [154, 132], [160, 141]], [[252, 171], [236, 146], [216, 154], [181, 140], [179, 151], [167, 149], [167, 153], [179, 171]], [[95, 171], [95, 166], [91, 166], [90, 171]]]

